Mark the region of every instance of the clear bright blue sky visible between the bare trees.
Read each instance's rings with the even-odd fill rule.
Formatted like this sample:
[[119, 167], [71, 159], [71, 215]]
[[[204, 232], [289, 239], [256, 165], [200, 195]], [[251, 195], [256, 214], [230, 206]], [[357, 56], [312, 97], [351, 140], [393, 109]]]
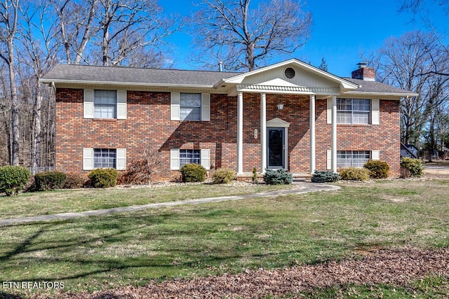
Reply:
[[[433, 1], [433, 0], [426, 0]], [[177, 13], [190, 15], [198, 9], [192, 0], [159, 0], [166, 14]], [[198, 2], [198, 1], [196, 1]], [[257, 6], [260, 0], [252, 0]], [[328, 63], [328, 71], [337, 76], [351, 76], [360, 62], [360, 53], [370, 53], [382, 47], [391, 36], [399, 37], [415, 29], [427, 30], [421, 18], [411, 13], [399, 13], [398, 6], [402, 0], [309, 0], [307, 11], [311, 12], [313, 25], [307, 44], [297, 50], [292, 57], [319, 66], [321, 57]], [[438, 32], [445, 32], [449, 27], [449, 16], [443, 11], [429, 5], [423, 15], [431, 15], [431, 20]], [[431, 11], [434, 9], [434, 11]], [[186, 25], [188, 26], [188, 25]], [[176, 69], [195, 69], [189, 63], [187, 53], [191, 51], [191, 39], [184, 32], [177, 32], [170, 38], [175, 45], [173, 49]], [[279, 61], [273, 60], [272, 63]]]

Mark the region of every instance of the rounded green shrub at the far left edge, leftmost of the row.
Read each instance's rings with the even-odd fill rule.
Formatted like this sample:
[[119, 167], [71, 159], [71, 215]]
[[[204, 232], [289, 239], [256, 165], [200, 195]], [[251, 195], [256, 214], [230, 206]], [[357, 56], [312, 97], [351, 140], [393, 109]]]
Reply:
[[8, 196], [15, 195], [25, 186], [29, 176], [29, 170], [21, 166], [0, 167], [0, 192]]

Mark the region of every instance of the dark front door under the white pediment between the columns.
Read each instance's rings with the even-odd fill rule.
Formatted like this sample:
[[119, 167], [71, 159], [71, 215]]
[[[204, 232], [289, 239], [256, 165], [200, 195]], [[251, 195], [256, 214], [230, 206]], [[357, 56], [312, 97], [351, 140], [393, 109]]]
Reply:
[[268, 168], [285, 168], [286, 129], [283, 127], [268, 127]]

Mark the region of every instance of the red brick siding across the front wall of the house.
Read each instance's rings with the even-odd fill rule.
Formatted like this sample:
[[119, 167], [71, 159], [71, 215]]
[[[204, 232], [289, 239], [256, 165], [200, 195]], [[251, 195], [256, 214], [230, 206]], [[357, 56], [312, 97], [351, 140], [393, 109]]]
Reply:
[[[278, 111], [277, 104], [284, 104]], [[128, 90], [126, 120], [83, 118], [83, 90], [58, 88], [56, 92], [56, 168], [83, 172], [83, 148], [126, 148], [127, 163], [152, 146], [163, 158], [159, 179], [174, 179], [170, 148], [210, 150], [211, 168], [236, 168], [236, 97], [210, 95], [210, 121], [170, 120], [170, 92]], [[309, 97], [267, 95], [267, 120], [281, 118], [288, 128], [288, 169], [309, 172]], [[254, 130], [257, 129], [257, 139]], [[243, 95], [243, 171], [260, 171], [260, 95]], [[380, 150], [398, 175], [399, 106], [380, 102], [380, 125], [338, 125], [339, 150]], [[316, 100], [316, 167], [326, 169], [330, 149], [330, 125], [326, 100]], [[213, 169], [211, 169], [211, 172]], [[88, 172], [83, 172], [88, 173]]]

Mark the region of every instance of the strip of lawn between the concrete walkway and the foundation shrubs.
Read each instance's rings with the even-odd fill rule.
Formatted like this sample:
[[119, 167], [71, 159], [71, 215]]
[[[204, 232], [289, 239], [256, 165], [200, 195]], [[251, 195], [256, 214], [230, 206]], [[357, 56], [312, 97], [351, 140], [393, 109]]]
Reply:
[[15, 197], [0, 197], [0, 219], [72, 211], [91, 211], [201, 197], [243, 195], [281, 188], [291, 188], [291, 186], [254, 185], [236, 188], [227, 185], [194, 184], [153, 188], [107, 188], [21, 193]]

